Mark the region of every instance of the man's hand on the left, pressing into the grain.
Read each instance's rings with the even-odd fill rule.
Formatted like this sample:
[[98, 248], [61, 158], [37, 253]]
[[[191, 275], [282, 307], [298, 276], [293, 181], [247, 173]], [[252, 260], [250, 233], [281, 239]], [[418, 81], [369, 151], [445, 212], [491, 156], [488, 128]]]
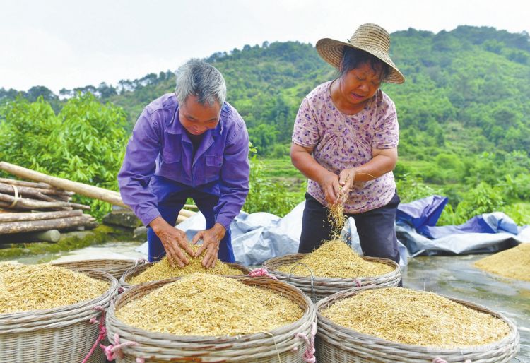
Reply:
[[153, 232], [155, 232], [158, 238], [160, 238], [165, 249], [167, 260], [170, 261], [170, 265], [172, 267], [178, 265], [181, 268], [186, 266], [189, 261], [186, 256], [184, 256], [184, 253], [182, 253], [179, 246], [186, 250], [189, 256], [194, 256], [194, 251], [192, 247], [189, 246], [186, 233], [173, 227], [162, 217], [155, 218], [149, 223], [149, 225], [153, 228]]

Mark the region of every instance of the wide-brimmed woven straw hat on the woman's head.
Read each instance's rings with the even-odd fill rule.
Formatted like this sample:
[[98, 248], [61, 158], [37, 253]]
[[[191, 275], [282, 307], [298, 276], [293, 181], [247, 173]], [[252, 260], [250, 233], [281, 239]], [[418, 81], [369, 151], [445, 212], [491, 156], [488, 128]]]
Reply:
[[347, 43], [329, 38], [324, 38], [317, 42], [317, 52], [322, 56], [322, 59], [337, 69], [341, 68], [344, 47], [361, 49], [388, 64], [391, 69], [387, 79], [388, 83], [405, 82], [405, 77], [389, 56], [390, 35], [387, 30], [384, 30], [379, 25], [360, 25]]

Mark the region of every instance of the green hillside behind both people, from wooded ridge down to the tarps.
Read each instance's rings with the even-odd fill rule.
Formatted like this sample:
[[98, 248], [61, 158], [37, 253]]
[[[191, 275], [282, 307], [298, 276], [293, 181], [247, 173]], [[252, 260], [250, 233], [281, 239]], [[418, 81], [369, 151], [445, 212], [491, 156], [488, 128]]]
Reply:
[[[505, 210], [518, 222], [530, 222], [529, 35], [460, 26], [437, 34], [394, 32], [391, 41], [392, 59], [406, 77], [403, 85], [383, 86], [399, 115], [396, 177], [402, 199], [433, 192], [449, 196], [453, 213], [445, 213], [442, 222], [461, 222], [483, 210]], [[224, 74], [228, 102], [247, 122], [260, 157], [287, 165], [302, 97], [336, 71], [311, 44], [299, 42], [245, 45], [207, 61]], [[93, 93], [122, 107], [130, 131], [141, 109], [173, 88], [174, 77], [165, 71], [114, 86], [61, 90], [61, 96]], [[0, 88], [0, 102], [17, 94]], [[56, 112], [65, 102], [38, 86], [22, 95], [30, 101], [42, 95]], [[271, 177], [281, 182], [279, 169], [271, 169]], [[300, 188], [292, 184], [302, 177], [288, 167], [281, 170], [288, 189], [300, 198]]]

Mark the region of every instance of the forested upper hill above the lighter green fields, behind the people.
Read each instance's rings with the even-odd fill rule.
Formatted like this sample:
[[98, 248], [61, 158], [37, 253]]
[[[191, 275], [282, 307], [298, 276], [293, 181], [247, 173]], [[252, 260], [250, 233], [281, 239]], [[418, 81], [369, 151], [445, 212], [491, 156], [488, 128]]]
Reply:
[[[460, 26], [450, 32], [409, 29], [391, 35], [391, 54], [406, 76], [403, 85], [384, 85], [396, 102], [401, 124], [401, 155], [429, 157], [440, 147], [454, 153], [530, 150], [530, 37], [494, 28]], [[218, 52], [208, 59], [223, 72], [228, 101], [247, 122], [261, 153], [283, 153], [300, 100], [335, 72], [310, 44], [264, 42], [261, 46]], [[102, 83], [61, 95], [92, 92], [124, 107], [131, 124], [143, 106], [174, 88], [171, 72], [154, 73], [116, 87]], [[15, 90], [0, 89], [0, 100]], [[23, 93], [43, 95], [44, 87]], [[276, 146], [276, 150], [275, 149]], [[446, 150], [446, 151], [447, 151]]]

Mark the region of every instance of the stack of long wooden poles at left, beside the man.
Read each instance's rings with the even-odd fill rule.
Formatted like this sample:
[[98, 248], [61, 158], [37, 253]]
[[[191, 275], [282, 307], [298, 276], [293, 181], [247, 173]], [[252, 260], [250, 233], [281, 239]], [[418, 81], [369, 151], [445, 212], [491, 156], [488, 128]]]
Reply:
[[[0, 178], [0, 211], [4, 210], [0, 213], [0, 240], [4, 234], [93, 225], [94, 218], [82, 212], [90, 206], [71, 203], [71, 196], [76, 193], [128, 208], [117, 191], [51, 177], [8, 162], [0, 162], [0, 170], [35, 181]], [[178, 222], [194, 214], [183, 209]]]

